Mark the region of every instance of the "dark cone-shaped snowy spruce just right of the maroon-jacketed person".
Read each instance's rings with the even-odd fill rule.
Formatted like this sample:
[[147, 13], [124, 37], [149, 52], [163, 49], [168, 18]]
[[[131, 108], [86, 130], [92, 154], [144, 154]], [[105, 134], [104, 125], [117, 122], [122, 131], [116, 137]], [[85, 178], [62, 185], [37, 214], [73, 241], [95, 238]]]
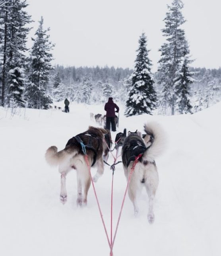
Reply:
[[151, 73], [151, 61], [148, 57], [147, 38], [142, 33], [139, 39], [138, 55], [135, 70], [132, 74], [132, 86], [126, 101], [125, 115], [152, 114], [157, 107], [157, 95], [153, 87], [154, 80]]

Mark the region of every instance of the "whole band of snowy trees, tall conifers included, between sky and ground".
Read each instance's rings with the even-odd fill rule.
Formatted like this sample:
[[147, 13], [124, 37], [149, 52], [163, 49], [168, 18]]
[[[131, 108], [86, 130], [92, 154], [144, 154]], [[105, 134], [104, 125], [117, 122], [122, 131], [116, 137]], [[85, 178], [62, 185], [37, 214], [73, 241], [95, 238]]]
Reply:
[[[43, 17], [26, 43], [33, 22], [27, 0], [0, 0], [0, 106], [48, 109], [68, 98], [84, 104], [104, 103], [112, 96], [125, 115], [195, 113], [221, 100], [221, 68], [193, 68], [182, 24], [183, 3], [167, 5], [161, 29], [165, 37], [153, 73], [148, 36], [138, 39], [134, 69], [52, 65], [55, 44]], [[163, 17], [162, 17], [163, 18]], [[56, 42], [55, 42], [56, 43]]]

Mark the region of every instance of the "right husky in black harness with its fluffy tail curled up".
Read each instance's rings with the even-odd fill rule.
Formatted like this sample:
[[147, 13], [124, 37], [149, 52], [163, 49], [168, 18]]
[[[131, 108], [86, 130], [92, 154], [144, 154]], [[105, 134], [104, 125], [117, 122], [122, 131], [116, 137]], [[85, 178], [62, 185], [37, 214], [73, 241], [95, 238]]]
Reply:
[[136, 215], [138, 214], [138, 193], [145, 186], [149, 197], [147, 219], [149, 223], [153, 223], [153, 199], [159, 183], [155, 157], [163, 151], [165, 140], [163, 139], [163, 130], [157, 123], [145, 124], [144, 131], [144, 138], [142, 138], [142, 133], [140, 132], [128, 132], [128, 137], [124, 141], [121, 155], [124, 174], [128, 180], [136, 156], [142, 154], [132, 173], [128, 186], [128, 195], [134, 205], [134, 214]]

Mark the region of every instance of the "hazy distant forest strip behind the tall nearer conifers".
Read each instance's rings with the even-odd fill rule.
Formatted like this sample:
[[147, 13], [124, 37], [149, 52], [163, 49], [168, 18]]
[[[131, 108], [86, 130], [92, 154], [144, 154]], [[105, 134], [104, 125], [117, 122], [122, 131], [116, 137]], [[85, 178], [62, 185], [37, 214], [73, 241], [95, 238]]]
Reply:
[[[221, 68], [219, 69], [206, 69], [206, 68], [193, 68], [190, 67], [191, 72], [194, 73], [194, 82], [190, 86], [190, 98], [194, 106], [194, 112], [209, 107], [221, 100]], [[56, 79], [60, 78], [62, 84], [62, 91], [55, 97], [57, 100], [63, 100], [69, 97], [70, 100], [79, 100], [79, 89], [81, 88], [84, 78], [89, 77], [95, 95], [97, 90], [103, 90], [104, 85], [109, 84], [112, 86], [112, 96], [123, 103], [126, 102], [127, 95], [124, 92], [127, 86], [130, 87], [130, 78], [134, 70], [129, 68], [114, 68], [112, 67], [64, 67], [56, 65], [53, 70], [50, 70], [50, 88], [54, 88]], [[155, 90], [157, 94], [162, 91], [161, 86], [158, 84], [160, 72], [153, 73], [155, 80]], [[100, 88], [99, 88], [100, 83]], [[74, 88], [71, 89], [71, 88]], [[53, 89], [54, 91], [54, 89]], [[72, 91], [72, 93], [71, 93]], [[105, 102], [107, 98], [98, 92], [97, 96], [91, 100], [91, 103]], [[80, 100], [79, 100], [80, 101]], [[160, 112], [160, 110], [159, 110]]]

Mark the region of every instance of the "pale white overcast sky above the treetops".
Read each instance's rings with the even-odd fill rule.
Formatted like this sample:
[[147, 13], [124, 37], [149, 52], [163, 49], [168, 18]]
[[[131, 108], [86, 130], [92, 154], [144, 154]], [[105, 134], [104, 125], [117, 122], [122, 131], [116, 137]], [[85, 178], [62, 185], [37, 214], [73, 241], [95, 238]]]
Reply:
[[[172, 0], [27, 0], [27, 12], [35, 21], [41, 16], [50, 27], [54, 64], [64, 66], [115, 66], [134, 68], [138, 39], [147, 35], [147, 48], [157, 70], [159, 48], [165, 41], [161, 29], [167, 4]], [[221, 66], [221, 1], [183, 0], [182, 13], [192, 66]], [[31, 40], [28, 46], [31, 47]]]

